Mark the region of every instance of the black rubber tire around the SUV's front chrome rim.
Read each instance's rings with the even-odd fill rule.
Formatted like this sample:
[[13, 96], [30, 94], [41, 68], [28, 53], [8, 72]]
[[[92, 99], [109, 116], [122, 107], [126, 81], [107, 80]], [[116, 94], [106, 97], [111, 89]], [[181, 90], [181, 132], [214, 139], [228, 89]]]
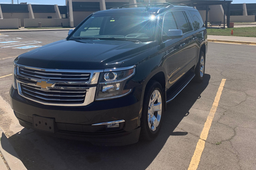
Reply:
[[[155, 90], [158, 90], [160, 92], [162, 105], [161, 105], [161, 117], [160, 117], [159, 125], [156, 126], [156, 130], [152, 131], [149, 128], [149, 124], [148, 124], [148, 108], [149, 108], [149, 102], [151, 101], [151, 95]], [[164, 96], [163, 96], [163, 89], [161, 84], [154, 80], [149, 81], [144, 94], [145, 95], [143, 100], [141, 124], [140, 124], [141, 125], [140, 138], [143, 140], [151, 141], [154, 138], [156, 138], [156, 136], [158, 135], [163, 122]], [[156, 103], [158, 102], [159, 101], [157, 99]], [[158, 112], [154, 112], [154, 113], [157, 114]]]

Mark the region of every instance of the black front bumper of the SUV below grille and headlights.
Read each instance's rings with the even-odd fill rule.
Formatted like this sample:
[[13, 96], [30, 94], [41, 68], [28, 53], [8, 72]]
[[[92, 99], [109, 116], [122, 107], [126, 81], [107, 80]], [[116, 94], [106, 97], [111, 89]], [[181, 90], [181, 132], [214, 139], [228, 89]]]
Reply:
[[[10, 89], [10, 104], [21, 126], [33, 128], [33, 115], [54, 118], [56, 132], [51, 134], [64, 138], [76, 138], [100, 145], [127, 145], [139, 139], [139, 111], [141, 88], [133, 88], [128, 96], [92, 102], [87, 106], [47, 106], [23, 98], [13, 87]], [[109, 130], [105, 125], [93, 124], [125, 120], [119, 129]], [[47, 133], [47, 132], [46, 132]]]

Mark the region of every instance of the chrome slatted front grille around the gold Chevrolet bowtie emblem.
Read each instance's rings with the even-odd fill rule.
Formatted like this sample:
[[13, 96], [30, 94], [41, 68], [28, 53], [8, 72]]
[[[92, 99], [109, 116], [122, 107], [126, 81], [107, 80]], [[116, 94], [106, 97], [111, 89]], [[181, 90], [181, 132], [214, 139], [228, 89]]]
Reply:
[[[17, 64], [18, 92], [44, 105], [85, 106], [94, 101], [100, 72], [103, 70], [43, 69]], [[43, 87], [41, 82], [50, 85]]]

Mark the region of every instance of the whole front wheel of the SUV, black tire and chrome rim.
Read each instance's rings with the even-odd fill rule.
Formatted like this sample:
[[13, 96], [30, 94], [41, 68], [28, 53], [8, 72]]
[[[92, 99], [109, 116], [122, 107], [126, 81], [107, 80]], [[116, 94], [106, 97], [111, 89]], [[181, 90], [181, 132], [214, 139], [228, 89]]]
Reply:
[[163, 117], [163, 90], [157, 81], [150, 81], [145, 90], [141, 116], [140, 136], [153, 140], [159, 133]]

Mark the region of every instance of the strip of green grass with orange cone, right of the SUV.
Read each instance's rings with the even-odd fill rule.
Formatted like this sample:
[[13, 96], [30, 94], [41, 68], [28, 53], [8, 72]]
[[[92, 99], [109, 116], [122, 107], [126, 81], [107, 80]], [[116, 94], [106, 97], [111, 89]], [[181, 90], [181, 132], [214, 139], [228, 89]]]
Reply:
[[[233, 35], [231, 35], [233, 30]], [[208, 35], [213, 36], [238, 36], [238, 37], [256, 37], [256, 27], [240, 27], [223, 29], [207, 29]]]

